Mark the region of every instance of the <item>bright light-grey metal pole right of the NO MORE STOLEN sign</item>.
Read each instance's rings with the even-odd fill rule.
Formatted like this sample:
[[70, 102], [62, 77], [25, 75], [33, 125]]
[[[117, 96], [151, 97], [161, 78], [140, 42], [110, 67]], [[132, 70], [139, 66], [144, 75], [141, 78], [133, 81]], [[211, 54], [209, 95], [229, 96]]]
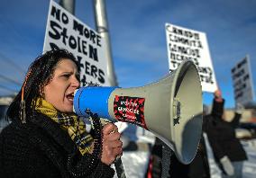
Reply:
[[118, 85], [114, 75], [114, 67], [111, 53], [111, 45], [109, 31], [107, 25], [107, 17], [105, 13], [105, 0], [94, 0], [95, 16], [96, 16], [96, 31], [105, 39], [105, 58], [107, 60], [106, 72], [107, 78], [111, 86]]

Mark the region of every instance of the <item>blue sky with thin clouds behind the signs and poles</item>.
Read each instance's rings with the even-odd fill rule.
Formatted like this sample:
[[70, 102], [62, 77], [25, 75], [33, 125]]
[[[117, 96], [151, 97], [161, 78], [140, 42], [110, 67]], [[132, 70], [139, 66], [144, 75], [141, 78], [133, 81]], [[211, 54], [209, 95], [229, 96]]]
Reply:
[[[92, 2], [76, 0], [75, 14], [95, 29]], [[1, 2], [0, 95], [17, 91], [20, 85], [14, 82], [23, 83], [27, 67], [41, 54], [49, 4], [49, 0]], [[252, 74], [256, 67], [255, 0], [106, 0], [105, 4], [119, 86], [147, 85], [168, 74], [164, 25], [169, 22], [206, 32], [217, 83], [226, 107], [233, 107], [231, 68], [247, 54]], [[256, 88], [255, 74], [253, 80]], [[204, 102], [211, 100], [212, 93], [204, 93]]]

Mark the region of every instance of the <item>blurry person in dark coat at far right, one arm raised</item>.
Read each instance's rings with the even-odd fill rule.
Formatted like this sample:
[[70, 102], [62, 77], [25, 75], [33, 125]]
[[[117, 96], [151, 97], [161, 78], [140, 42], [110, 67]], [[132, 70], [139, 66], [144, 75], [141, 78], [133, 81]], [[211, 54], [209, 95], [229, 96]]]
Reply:
[[242, 163], [247, 156], [240, 140], [235, 137], [241, 115], [241, 110], [236, 110], [233, 120], [225, 121], [224, 98], [220, 90], [215, 91], [212, 113], [205, 119], [205, 130], [222, 177], [242, 177]]

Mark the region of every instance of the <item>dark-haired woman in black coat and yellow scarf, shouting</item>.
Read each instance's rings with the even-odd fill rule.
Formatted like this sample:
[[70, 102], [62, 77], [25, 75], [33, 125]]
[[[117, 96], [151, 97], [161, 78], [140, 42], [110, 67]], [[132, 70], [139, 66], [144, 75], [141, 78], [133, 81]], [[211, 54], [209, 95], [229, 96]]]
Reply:
[[73, 113], [79, 87], [76, 58], [65, 49], [50, 50], [29, 67], [21, 91], [6, 117], [12, 120], [0, 135], [3, 177], [114, 176], [116, 156], [123, 153], [117, 127], [90, 133]]

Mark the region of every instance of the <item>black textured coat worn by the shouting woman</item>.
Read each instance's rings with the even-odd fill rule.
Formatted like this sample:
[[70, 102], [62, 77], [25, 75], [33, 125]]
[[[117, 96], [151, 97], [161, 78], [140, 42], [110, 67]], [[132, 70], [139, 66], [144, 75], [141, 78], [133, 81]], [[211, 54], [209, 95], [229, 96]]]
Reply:
[[32, 121], [13, 121], [1, 132], [0, 176], [107, 178], [114, 170], [98, 156], [81, 156], [67, 131], [36, 113]]

